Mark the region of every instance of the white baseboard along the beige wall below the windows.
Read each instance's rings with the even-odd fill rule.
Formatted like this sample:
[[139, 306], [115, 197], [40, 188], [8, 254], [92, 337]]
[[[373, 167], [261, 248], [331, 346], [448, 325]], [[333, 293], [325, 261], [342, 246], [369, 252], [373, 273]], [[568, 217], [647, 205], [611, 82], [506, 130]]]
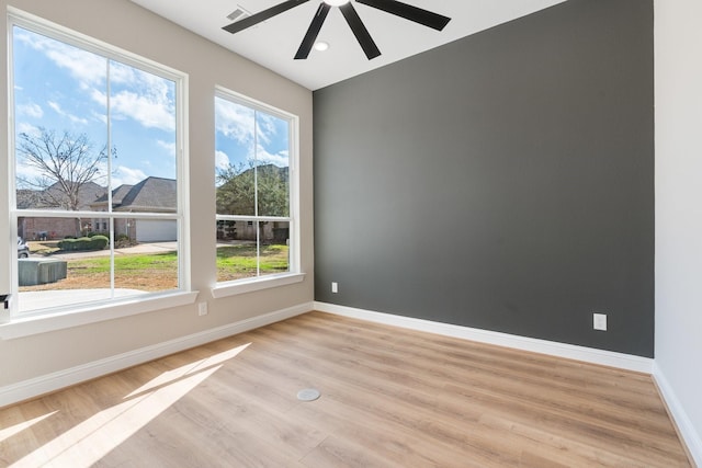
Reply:
[[291, 317], [299, 316], [301, 313], [313, 310], [313, 303], [301, 304], [298, 306], [288, 307], [286, 309], [217, 327], [212, 330], [205, 330], [188, 336], [157, 343], [139, 350], [118, 354], [116, 356], [106, 357], [104, 359], [94, 361], [92, 363], [71, 367], [65, 370], [20, 381], [18, 384], [0, 387], [0, 408], [35, 398], [41, 395], [49, 393], [52, 391], [60, 390], [61, 388], [80, 384], [81, 381], [90, 380], [127, 367], [154, 361], [169, 354], [178, 353], [179, 351], [200, 346], [237, 333], [242, 333]]

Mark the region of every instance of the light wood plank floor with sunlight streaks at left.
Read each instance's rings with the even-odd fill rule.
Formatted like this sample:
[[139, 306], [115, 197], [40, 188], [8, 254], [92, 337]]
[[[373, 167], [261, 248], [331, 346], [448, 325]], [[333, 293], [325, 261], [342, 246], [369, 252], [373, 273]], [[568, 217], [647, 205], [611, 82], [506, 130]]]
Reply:
[[320, 312], [1, 409], [4, 465], [690, 466], [649, 376]]

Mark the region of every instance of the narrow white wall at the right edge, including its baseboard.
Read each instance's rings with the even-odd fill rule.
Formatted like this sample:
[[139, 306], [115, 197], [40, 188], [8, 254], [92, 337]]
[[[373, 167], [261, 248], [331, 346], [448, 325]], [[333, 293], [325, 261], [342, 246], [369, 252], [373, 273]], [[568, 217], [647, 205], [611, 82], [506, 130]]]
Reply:
[[656, 367], [702, 466], [702, 1], [655, 0]]

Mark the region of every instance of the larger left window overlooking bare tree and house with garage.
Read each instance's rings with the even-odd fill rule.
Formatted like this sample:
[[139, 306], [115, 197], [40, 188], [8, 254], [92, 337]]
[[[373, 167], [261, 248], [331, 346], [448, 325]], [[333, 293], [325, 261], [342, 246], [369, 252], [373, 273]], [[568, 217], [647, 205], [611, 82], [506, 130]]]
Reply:
[[[12, 14], [13, 316], [189, 288], [185, 76]], [[149, 296], [150, 295], [150, 296]]]

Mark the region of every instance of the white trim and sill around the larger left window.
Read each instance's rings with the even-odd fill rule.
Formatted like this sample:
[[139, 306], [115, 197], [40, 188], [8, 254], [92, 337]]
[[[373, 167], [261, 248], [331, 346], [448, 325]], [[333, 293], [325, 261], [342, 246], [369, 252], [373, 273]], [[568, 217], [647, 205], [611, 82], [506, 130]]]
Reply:
[[[24, 12], [13, 7], [8, 7], [7, 16], [8, 32], [11, 32], [14, 25], [27, 28], [35, 33], [44, 34], [57, 41], [80, 47], [84, 50], [99, 54], [100, 56], [120, 61], [122, 64], [136, 67], [141, 70], [154, 72], [155, 75], [172, 80], [176, 83], [176, 138], [178, 148], [178, 206], [179, 212], [176, 214], [152, 214], [152, 217], [165, 217], [176, 219], [178, 221], [178, 260], [179, 260], [179, 289], [163, 293], [145, 293], [144, 296], [131, 296], [128, 298], [116, 298], [106, 301], [81, 303], [69, 307], [43, 309], [44, 311], [33, 311], [26, 315], [18, 313], [18, 267], [16, 267], [16, 248], [12, 246], [10, 261], [11, 266], [11, 301], [9, 310], [0, 310], [0, 339], [12, 339], [27, 336], [37, 333], [45, 333], [54, 330], [61, 330], [71, 327], [83, 326], [88, 323], [112, 320], [122, 317], [134, 316], [137, 313], [151, 312], [171, 307], [185, 306], [194, 304], [197, 292], [191, 290], [191, 254], [190, 254], [190, 226], [186, 222], [190, 213], [190, 176], [188, 172], [189, 165], [189, 123], [188, 123], [188, 90], [189, 76], [182, 71], [170, 68], [166, 65], [133, 54], [109, 43], [104, 43], [97, 38], [72, 31], [59, 24], [44, 20], [34, 14]], [[10, 44], [9, 62], [9, 80], [13, 83], [12, 70], [12, 42]], [[13, 159], [15, 155], [14, 141], [14, 93], [9, 93], [8, 102], [8, 153], [7, 164], [10, 169], [8, 178], [9, 185], [14, 189], [14, 167]], [[15, 192], [10, 191], [10, 206], [15, 206]], [[25, 215], [25, 212], [18, 212], [16, 208], [10, 209], [11, 219], [11, 239], [16, 239], [16, 218], [18, 214]], [[90, 212], [92, 215], [102, 212]], [[42, 212], [42, 216], [48, 213]], [[102, 214], [104, 217], [105, 214]], [[146, 214], [140, 214], [146, 215]], [[50, 215], [49, 215], [50, 216]], [[112, 217], [118, 218], [126, 215], [111, 214]], [[146, 215], [144, 217], [149, 217]]]

